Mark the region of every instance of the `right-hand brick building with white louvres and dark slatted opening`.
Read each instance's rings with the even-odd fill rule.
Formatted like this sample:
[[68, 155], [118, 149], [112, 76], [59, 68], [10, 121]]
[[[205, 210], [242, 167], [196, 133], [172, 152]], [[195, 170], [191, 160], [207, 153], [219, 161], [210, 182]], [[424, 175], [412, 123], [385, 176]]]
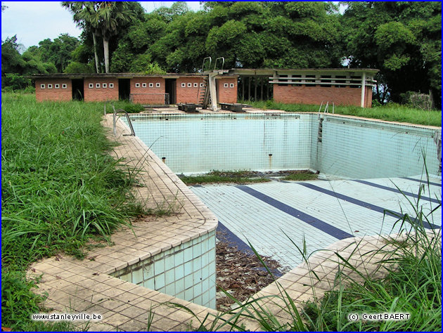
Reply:
[[243, 100], [274, 98], [281, 103], [371, 107], [373, 79], [368, 68], [233, 69], [239, 76], [238, 97]]

